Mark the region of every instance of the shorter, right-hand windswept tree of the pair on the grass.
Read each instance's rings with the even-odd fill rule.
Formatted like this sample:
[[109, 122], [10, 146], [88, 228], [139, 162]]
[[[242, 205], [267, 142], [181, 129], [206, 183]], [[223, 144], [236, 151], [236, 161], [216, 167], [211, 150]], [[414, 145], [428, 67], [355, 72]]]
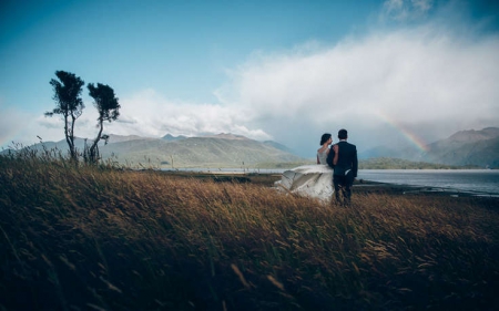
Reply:
[[114, 90], [109, 85], [98, 83], [94, 86], [92, 83], [86, 85], [89, 89], [89, 95], [93, 99], [93, 104], [99, 112], [98, 127], [99, 134], [93, 141], [88, 151], [88, 160], [95, 163], [99, 159], [99, 141], [101, 138], [106, 139], [106, 135], [102, 135], [104, 129], [104, 121], [112, 122], [120, 116], [120, 104], [118, 97], [114, 95]]

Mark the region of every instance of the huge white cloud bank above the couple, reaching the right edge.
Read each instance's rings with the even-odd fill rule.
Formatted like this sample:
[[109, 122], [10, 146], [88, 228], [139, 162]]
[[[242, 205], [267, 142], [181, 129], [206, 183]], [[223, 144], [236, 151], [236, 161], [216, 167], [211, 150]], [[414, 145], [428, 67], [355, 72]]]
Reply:
[[431, 24], [371, 32], [328, 49], [255, 55], [232, 73], [233, 102], [251, 111], [254, 124], [297, 149], [304, 144], [295, 138], [304, 131], [315, 144], [322, 132], [340, 127], [363, 144], [386, 143], [389, 137], [379, 128], [388, 120], [430, 143], [456, 131], [498, 125], [497, 55], [496, 35], [461, 38]]

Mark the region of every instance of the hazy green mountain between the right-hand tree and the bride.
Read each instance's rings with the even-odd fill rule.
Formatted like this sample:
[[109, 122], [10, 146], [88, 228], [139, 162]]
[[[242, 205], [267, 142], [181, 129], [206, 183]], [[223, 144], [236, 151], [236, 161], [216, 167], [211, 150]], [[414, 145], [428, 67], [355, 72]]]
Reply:
[[169, 167], [248, 167], [305, 159], [266, 143], [232, 134], [180, 139], [138, 139], [100, 147], [103, 158]]

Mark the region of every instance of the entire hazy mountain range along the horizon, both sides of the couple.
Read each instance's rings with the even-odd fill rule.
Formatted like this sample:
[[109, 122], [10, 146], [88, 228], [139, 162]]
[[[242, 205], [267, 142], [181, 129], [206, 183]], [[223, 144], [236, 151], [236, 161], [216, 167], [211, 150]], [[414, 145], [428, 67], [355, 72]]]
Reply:
[[[84, 148], [84, 139], [75, 139], [79, 151]], [[30, 148], [67, 152], [68, 144], [62, 139], [34, 144]], [[284, 168], [315, 163], [315, 159], [295, 155], [279, 143], [257, 142], [230, 133], [200, 137], [166, 134], [161, 138], [109, 135], [108, 143], [100, 142], [99, 149], [103, 159], [132, 167]], [[373, 158], [499, 168], [499, 127], [460, 131], [446, 139], [426, 145], [422, 152], [409, 147], [379, 146], [359, 153], [360, 160]]]

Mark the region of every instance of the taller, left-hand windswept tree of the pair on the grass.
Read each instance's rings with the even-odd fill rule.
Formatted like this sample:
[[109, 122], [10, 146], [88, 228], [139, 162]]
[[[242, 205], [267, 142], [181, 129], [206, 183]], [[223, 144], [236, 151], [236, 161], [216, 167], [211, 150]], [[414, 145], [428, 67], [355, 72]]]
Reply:
[[74, 123], [85, 107], [80, 97], [85, 82], [73, 73], [65, 71], [55, 71], [55, 75], [59, 81], [55, 79], [50, 80], [50, 85], [52, 85], [54, 92], [55, 108], [47, 112], [45, 116], [62, 115], [65, 141], [68, 142], [71, 158], [78, 160], [77, 148], [74, 147]]

